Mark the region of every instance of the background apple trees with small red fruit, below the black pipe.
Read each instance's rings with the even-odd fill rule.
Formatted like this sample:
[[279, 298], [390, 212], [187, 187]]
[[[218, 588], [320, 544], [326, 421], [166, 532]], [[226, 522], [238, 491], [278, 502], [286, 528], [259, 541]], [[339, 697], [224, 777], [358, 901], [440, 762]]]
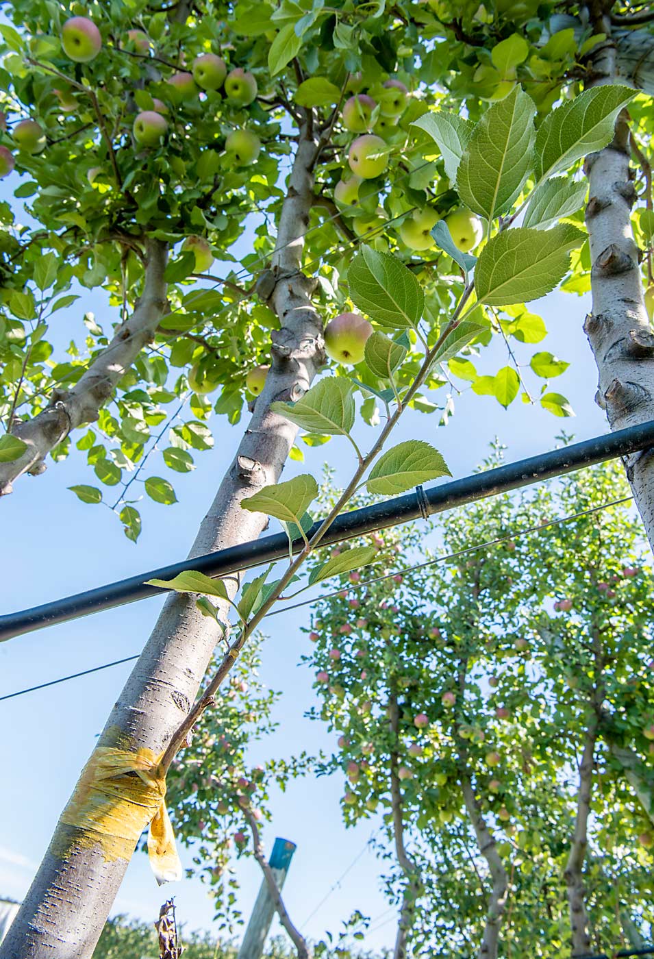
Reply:
[[383, 814], [396, 955], [651, 938], [652, 571], [627, 507], [594, 511], [626, 493], [611, 466], [466, 507], [438, 523], [443, 558], [404, 574], [424, 530], [385, 531], [315, 614], [324, 771], [345, 823]]

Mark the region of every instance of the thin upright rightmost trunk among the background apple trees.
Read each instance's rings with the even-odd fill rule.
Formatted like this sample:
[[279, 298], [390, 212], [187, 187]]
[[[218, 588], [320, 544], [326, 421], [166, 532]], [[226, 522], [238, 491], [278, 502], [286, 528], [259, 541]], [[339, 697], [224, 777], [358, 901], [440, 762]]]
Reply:
[[593, 792], [596, 737], [597, 720], [594, 718], [584, 739], [584, 749], [579, 765], [579, 792], [577, 794], [574, 832], [564, 873], [568, 892], [573, 956], [587, 955], [591, 951], [583, 866], [588, 848], [588, 817], [591, 811], [591, 795]]

